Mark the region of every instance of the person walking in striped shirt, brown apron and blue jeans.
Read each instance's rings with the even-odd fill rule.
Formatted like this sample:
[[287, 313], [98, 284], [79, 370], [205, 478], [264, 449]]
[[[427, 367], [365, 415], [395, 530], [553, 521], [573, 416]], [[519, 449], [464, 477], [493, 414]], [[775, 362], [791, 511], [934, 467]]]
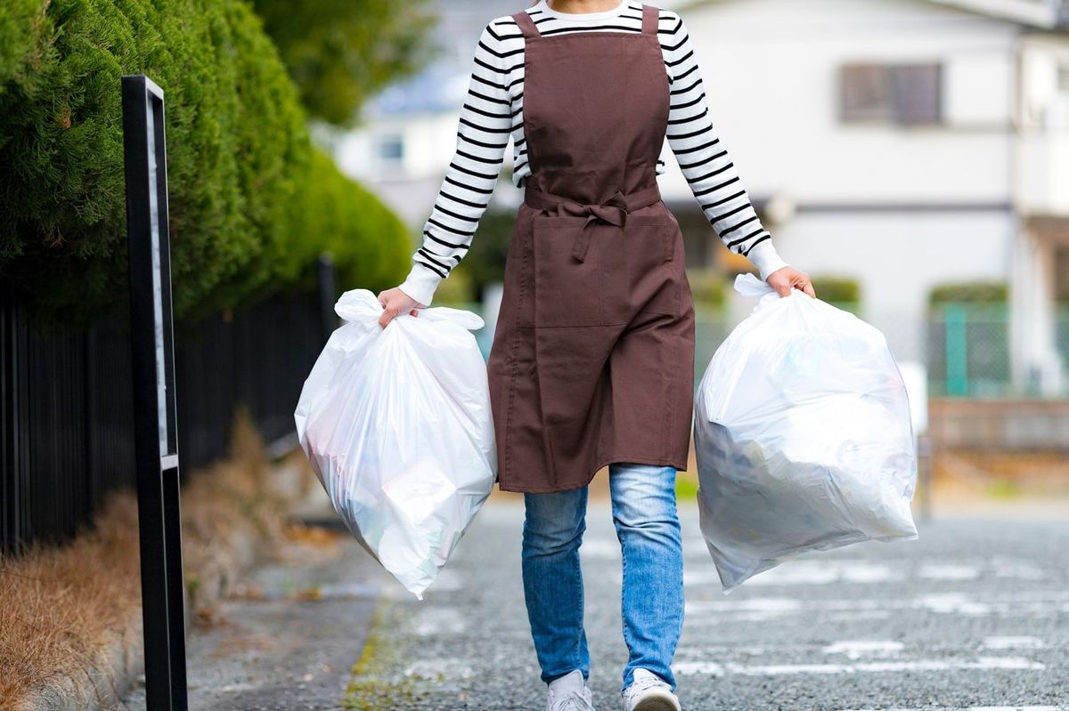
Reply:
[[540, 0], [476, 49], [456, 152], [412, 271], [381, 323], [431, 303], [461, 262], [513, 139], [524, 189], [487, 363], [498, 486], [524, 492], [523, 582], [548, 711], [592, 709], [579, 544], [588, 485], [609, 469], [623, 558], [626, 711], [679, 711], [676, 512], [694, 398], [694, 300], [656, 176], [667, 137], [728, 249], [780, 295], [809, 278], [762, 227], [715, 135], [678, 14], [638, 0]]

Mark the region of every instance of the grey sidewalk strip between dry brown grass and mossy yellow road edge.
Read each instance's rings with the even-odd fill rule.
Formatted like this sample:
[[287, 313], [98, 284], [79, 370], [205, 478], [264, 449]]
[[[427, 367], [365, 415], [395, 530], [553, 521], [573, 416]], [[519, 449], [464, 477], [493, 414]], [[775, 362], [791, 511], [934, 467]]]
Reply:
[[[338, 709], [385, 575], [347, 534], [254, 570], [188, 642], [191, 711]], [[126, 700], [145, 711], [144, 690]], [[385, 710], [384, 710], [385, 711]]]

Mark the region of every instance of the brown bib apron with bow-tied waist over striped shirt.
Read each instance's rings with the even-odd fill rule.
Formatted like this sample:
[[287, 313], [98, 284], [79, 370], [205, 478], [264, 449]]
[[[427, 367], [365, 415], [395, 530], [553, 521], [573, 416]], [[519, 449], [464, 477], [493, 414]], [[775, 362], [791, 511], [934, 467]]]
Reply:
[[694, 300], [656, 162], [669, 89], [657, 9], [640, 34], [542, 36], [527, 12], [516, 215], [487, 362], [498, 487], [547, 492], [610, 462], [685, 470]]

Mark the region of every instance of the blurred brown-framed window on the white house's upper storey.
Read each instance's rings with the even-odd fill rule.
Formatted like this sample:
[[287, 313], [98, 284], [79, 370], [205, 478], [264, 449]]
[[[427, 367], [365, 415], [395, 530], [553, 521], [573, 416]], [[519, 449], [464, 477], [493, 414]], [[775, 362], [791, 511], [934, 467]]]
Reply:
[[943, 67], [931, 64], [847, 64], [839, 67], [843, 123], [939, 124]]

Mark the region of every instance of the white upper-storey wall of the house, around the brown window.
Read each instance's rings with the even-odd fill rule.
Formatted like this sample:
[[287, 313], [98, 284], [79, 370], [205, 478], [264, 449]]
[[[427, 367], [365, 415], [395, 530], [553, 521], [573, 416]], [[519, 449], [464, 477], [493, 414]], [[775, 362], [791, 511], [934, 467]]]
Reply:
[[[1006, 203], [1018, 29], [901, 0], [733, 0], [684, 7], [714, 125], [758, 196], [800, 203]], [[936, 128], [838, 118], [843, 62], [944, 61]], [[666, 158], [670, 151], [666, 148]], [[676, 198], [682, 176], [662, 178]]]

